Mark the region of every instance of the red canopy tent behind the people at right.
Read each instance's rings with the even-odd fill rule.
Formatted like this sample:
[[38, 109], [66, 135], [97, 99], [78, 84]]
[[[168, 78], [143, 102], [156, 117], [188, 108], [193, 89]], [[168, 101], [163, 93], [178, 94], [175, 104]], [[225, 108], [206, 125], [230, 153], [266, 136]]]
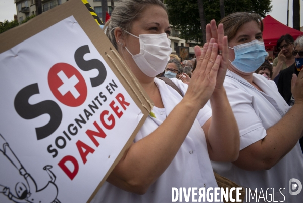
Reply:
[[264, 30], [263, 30], [263, 40], [265, 47], [267, 49], [272, 49], [273, 46], [277, 45], [277, 40], [285, 34], [290, 34], [294, 40], [303, 35], [303, 32], [300, 32], [296, 29], [288, 27], [270, 15], [267, 15], [263, 20]]

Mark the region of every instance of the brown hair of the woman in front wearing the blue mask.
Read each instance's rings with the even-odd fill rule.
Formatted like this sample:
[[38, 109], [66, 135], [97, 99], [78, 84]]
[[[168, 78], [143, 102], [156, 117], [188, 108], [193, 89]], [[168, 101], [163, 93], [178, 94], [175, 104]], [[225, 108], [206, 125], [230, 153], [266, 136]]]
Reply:
[[228, 42], [233, 39], [238, 29], [245, 23], [256, 21], [261, 32], [263, 32], [263, 22], [261, 17], [256, 13], [238, 12], [232, 13], [220, 20], [219, 23], [223, 24], [224, 35], [227, 36]]

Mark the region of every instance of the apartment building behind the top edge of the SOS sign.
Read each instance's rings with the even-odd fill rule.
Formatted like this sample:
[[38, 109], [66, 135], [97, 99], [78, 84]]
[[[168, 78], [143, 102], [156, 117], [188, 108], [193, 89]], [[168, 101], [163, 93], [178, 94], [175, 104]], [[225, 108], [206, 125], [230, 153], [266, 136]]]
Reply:
[[[58, 5], [65, 3], [68, 0], [42, 0], [42, 12], [48, 11], [49, 9], [53, 9]], [[95, 10], [96, 14], [102, 19], [102, 5], [101, 0], [87, 0], [90, 6]], [[114, 4], [117, 3], [118, 0], [114, 0]], [[36, 15], [36, 4], [38, 4], [38, 0], [15, 0], [16, 10], [17, 10], [17, 19], [20, 23], [26, 17], [31, 15]], [[108, 13], [112, 12], [111, 2], [108, 1]]]

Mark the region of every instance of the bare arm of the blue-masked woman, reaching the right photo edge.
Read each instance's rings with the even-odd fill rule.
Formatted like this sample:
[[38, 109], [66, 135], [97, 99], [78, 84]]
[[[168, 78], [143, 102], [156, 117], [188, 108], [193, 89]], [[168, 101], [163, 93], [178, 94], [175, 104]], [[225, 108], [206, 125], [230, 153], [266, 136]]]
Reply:
[[302, 137], [303, 72], [293, 74], [292, 94], [295, 104], [278, 123], [267, 129], [266, 136], [242, 149], [234, 164], [244, 170], [266, 170], [283, 158]]

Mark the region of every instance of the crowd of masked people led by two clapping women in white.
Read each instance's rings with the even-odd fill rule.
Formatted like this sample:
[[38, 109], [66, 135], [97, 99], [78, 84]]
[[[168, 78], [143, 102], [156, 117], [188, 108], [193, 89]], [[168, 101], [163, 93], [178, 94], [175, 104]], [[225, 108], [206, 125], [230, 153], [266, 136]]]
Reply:
[[302, 201], [288, 190], [303, 181], [303, 37], [281, 37], [271, 64], [261, 17], [233, 13], [212, 20], [196, 58], [181, 62], [159, 0], [121, 1], [104, 29], [154, 107], [92, 202], [171, 202], [173, 187], [218, 187], [213, 171], [275, 201]]

